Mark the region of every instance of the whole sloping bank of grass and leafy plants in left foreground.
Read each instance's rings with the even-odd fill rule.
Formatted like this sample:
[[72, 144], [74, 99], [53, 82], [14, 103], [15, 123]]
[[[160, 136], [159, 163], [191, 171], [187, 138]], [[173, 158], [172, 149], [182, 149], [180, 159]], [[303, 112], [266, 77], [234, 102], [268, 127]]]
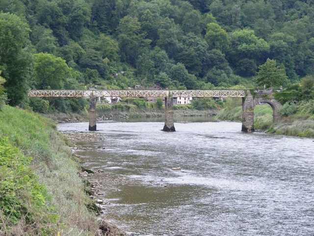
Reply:
[[55, 123], [5, 106], [0, 139], [0, 235], [95, 235], [92, 202]]

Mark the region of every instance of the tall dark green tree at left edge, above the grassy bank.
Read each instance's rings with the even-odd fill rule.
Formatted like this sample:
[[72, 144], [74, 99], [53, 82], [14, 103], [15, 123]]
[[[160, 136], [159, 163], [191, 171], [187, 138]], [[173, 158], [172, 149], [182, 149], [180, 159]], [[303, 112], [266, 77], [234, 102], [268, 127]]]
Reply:
[[0, 70], [10, 105], [26, 97], [32, 66], [29, 44], [28, 25], [14, 14], [0, 12]]

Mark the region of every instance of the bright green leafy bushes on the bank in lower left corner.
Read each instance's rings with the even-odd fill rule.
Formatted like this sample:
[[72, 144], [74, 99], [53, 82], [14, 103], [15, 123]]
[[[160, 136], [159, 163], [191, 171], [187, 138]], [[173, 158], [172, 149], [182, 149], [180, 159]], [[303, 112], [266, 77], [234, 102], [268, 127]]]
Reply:
[[45, 186], [28, 167], [30, 162], [31, 158], [10, 145], [7, 138], [0, 140], [0, 216], [5, 222], [0, 223], [0, 233], [2, 227], [25, 220], [38, 234], [46, 235], [48, 228], [42, 230], [40, 224], [57, 220]]

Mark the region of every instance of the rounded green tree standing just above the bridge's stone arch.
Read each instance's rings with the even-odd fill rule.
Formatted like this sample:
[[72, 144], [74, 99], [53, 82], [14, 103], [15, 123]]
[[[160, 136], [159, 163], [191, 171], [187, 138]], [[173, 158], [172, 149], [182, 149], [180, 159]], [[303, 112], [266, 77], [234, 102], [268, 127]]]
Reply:
[[265, 88], [280, 87], [288, 82], [284, 66], [278, 66], [276, 60], [267, 59], [259, 66], [256, 83]]

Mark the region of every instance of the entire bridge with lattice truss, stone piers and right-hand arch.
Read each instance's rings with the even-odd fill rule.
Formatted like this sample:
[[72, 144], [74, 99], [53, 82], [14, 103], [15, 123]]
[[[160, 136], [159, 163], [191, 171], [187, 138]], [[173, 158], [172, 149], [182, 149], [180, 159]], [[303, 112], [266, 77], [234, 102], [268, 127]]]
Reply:
[[176, 131], [174, 127], [174, 97], [216, 97], [242, 98], [242, 131], [254, 131], [254, 107], [258, 103], [268, 103], [273, 109], [273, 121], [280, 119], [278, 108], [280, 103], [277, 102], [272, 92], [258, 92], [251, 94], [249, 89], [242, 90], [145, 90], [145, 89], [128, 89], [128, 90], [28, 90], [29, 97], [82, 97], [89, 98], [89, 130], [96, 130], [96, 102], [98, 97], [164, 97], [165, 98], [165, 125], [163, 131]]

